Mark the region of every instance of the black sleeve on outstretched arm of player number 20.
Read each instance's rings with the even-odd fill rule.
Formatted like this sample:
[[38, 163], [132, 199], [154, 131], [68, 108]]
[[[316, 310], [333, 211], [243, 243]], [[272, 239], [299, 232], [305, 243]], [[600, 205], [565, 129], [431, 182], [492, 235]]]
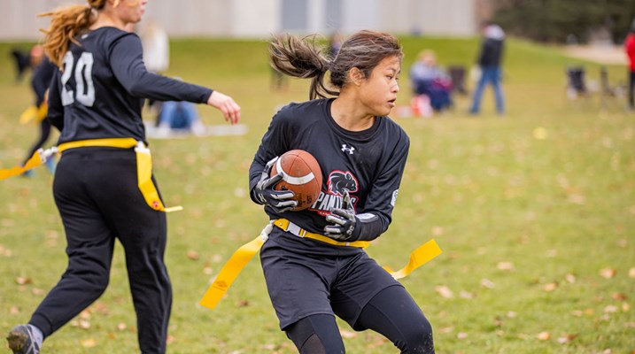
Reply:
[[143, 64], [143, 49], [137, 35], [123, 35], [112, 42], [109, 54], [112, 73], [133, 96], [195, 104], [205, 104], [212, 96], [212, 89], [149, 72]]

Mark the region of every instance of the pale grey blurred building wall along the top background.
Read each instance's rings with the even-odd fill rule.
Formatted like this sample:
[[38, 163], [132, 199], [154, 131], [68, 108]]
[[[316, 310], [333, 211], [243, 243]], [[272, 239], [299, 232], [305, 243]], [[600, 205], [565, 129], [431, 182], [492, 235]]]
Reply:
[[[405, 34], [476, 35], [488, 0], [152, 0], [143, 22], [172, 37], [264, 38], [281, 31], [345, 34], [362, 28]], [[478, 6], [476, 4], [479, 4]], [[84, 0], [0, 0], [0, 41], [38, 40], [48, 19], [37, 15]], [[477, 8], [478, 7], [478, 8]]]

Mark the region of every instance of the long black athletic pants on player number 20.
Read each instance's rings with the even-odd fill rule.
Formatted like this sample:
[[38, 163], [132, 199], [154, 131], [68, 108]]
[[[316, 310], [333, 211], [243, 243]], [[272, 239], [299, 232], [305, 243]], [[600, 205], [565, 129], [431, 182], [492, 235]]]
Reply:
[[152, 210], [137, 187], [135, 151], [66, 150], [53, 195], [66, 230], [68, 267], [29, 323], [46, 337], [97, 300], [108, 285], [118, 239], [126, 253], [139, 347], [164, 353], [172, 304], [163, 260], [166, 214]]

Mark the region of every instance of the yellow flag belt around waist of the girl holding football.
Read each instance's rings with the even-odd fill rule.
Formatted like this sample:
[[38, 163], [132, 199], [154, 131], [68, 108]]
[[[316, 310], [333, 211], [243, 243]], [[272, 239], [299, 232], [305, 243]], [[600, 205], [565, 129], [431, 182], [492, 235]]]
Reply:
[[[221, 272], [218, 273], [216, 279], [212, 285], [205, 292], [205, 296], [198, 304], [201, 304], [207, 308], [213, 309], [221, 301], [221, 298], [231, 284], [236, 280], [238, 274], [243, 270], [244, 266], [252, 259], [252, 257], [258, 253], [262, 245], [267, 241], [273, 226], [280, 227], [284, 231], [296, 235], [298, 237], [310, 238], [313, 240], [326, 242], [336, 246], [343, 247], [359, 247], [366, 248], [370, 244], [368, 241], [355, 241], [355, 242], [338, 242], [330, 239], [327, 236], [314, 234], [306, 231], [305, 229], [298, 227], [290, 222], [288, 219], [275, 219], [272, 220], [267, 227], [265, 227], [260, 235], [250, 242], [245, 243], [229, 258], [227, 263], [222, 266]], [[438, 247], [437, 242], [430, 240], [423, 243], [416, 250], [410, 254], [410, 260], [407, 265], [399, 269], [397, 272], [391, 272], [390, 268], [384, 267], [387, 272], [391, 273], [395, 279], [401, 279], [412, 273], [416, 268], [428, 263], [432, 258], [437, 257], [443, 251]]]

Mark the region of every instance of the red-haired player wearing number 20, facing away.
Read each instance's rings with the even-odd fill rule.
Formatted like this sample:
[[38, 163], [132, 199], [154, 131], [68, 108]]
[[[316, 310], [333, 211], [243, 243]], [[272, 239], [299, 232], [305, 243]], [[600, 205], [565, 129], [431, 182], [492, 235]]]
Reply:
[[172, 307], [166, 208], [151, 177], [143, 98], [209, 104], [232, 124], [240, 107], [219, 91], [148, 72], [141, 40], [126, 30], [142, 19], [147, 2], [88, 0], [43, 14], [51, 18], [43, 47], [59, 68], [47, 118], [61, 133], [53, 196], [68, 266], [28, 323], [7, 335], [13, 353], [38, 354], [44, 339], [104, 293], [117, 240], [125, 252], [139, 349], [166, 352]]

